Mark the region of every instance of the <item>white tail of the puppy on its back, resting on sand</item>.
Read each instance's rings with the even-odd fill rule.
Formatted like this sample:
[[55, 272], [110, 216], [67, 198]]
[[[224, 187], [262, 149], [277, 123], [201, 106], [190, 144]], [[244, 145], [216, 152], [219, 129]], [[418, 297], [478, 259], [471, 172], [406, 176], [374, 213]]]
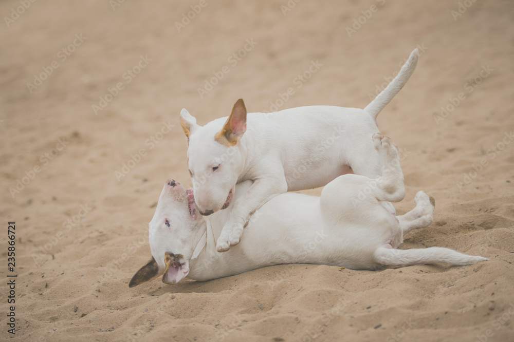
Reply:
[[389, 266], [408, 266], [434, 262], [447, 262], [452, 265], [464, 266], [485, 260], [489, 259], [481, 256], [462, 254], [442, 247], [410, 250], [395, 250], [380, 247], [375, 251], [375, 261]]

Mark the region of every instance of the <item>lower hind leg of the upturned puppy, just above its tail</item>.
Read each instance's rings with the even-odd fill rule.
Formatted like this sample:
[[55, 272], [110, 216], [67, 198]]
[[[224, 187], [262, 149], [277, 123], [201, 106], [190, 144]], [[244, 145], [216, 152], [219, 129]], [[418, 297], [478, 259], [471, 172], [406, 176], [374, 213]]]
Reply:
[[400, 222], [403, 235], [413, 229], [424, 228], [432, 223], [432, 215], [435, 207], [435, 200], [423, 191], [416, 194], [414, 198], [416, 206], [405, 215], [396, 216]]

